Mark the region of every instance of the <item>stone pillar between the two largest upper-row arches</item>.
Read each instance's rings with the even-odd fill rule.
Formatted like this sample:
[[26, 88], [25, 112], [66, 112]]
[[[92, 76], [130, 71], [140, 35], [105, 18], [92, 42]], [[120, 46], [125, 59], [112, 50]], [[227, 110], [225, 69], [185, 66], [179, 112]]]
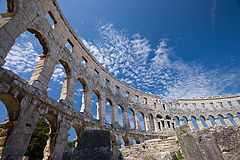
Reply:
[[41, 55], [38, 65], [30, 78], [29, 84], [47, 94], [48, 83], [50, 82], [56, 64], [57, 61], [50, 53], [48, 55]]

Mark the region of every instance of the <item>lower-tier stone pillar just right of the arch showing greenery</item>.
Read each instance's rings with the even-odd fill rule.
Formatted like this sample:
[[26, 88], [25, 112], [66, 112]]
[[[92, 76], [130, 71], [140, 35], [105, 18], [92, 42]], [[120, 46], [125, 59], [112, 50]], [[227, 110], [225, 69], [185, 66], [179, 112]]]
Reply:
[[[70, 122], [67, 120], [62, 120], [62, 122], [60, 123], [60, 128], [54, 132], [51, 135], [51, 139], [50, 141], [48, 141], [48, 144], [50, 142], [50, 154], [46, 154], [48, 155], [48, 157], [45, 156], [44, 154], [44, 160], [59, 160], [62, 159], [63, 156], [63, 152], [65, 149], [65, 146], [67, 145], [68, 142], [68, 131], [70, 130], [71, 125]], [[46, 148], [45, 148], [46, 149]], [[44, 152], [47, 151], [44, 149]]]

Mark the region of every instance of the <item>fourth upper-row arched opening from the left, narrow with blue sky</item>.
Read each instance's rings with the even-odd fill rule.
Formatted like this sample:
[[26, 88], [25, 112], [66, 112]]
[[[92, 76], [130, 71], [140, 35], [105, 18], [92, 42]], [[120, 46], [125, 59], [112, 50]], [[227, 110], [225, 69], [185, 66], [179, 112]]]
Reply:
[[100, 100], [99, 92], [93, 91], [93, 94], [92, 94], [92, 116], [95, 119], [99, 119], [99, 100]]

